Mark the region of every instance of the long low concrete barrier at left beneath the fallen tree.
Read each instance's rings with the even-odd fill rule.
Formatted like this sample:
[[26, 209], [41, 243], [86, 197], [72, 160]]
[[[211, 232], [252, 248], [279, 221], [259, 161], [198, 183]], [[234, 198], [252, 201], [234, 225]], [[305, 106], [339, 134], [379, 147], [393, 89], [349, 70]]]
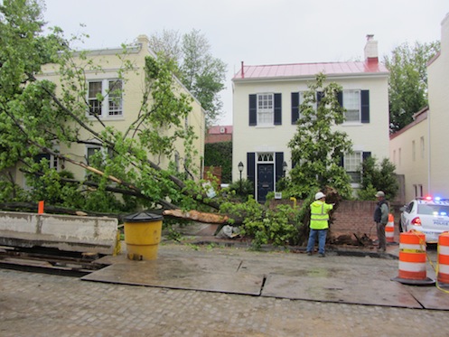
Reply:
[[0, 211], [0, 245], [113, 254], [117, 219]]

